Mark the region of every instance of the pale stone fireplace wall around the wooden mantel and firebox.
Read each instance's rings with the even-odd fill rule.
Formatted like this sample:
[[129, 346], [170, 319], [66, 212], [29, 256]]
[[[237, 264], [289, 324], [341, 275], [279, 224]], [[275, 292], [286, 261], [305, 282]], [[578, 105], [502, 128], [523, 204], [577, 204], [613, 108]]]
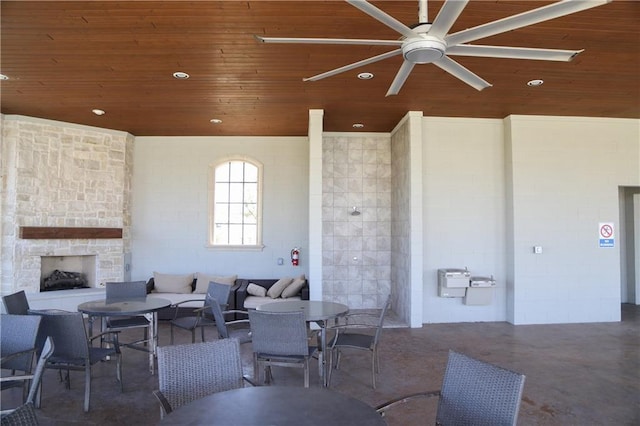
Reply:
[[[2, 293], [40, 289], [40, 256], [96, 255], [98, 285], [121, 281], [130, 247], [132, 135], [0, 116]], [[123, 228], [122, 239], [23, 240], [20, 226]]]

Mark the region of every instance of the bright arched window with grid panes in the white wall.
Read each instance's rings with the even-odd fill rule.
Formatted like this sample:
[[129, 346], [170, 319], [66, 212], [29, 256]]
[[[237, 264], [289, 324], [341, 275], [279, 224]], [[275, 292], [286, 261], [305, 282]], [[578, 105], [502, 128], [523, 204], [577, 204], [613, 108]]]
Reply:
[[209, 244], [262, 248], [262, 165], [244, 158], [211, 167]]

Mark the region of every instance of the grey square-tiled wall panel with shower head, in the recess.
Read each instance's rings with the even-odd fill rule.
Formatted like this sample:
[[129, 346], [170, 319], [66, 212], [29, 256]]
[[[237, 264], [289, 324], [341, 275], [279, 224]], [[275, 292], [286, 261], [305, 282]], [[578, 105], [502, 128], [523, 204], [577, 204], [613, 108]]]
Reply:
[[391, 287], [390, 137], [325, 134], [322, 150], [323, 299], [380, 308]]

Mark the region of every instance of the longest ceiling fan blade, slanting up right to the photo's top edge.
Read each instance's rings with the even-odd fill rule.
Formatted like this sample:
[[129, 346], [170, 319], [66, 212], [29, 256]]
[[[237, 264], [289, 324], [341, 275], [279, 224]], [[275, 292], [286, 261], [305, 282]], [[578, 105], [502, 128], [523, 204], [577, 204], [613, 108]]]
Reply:
[[460, 43], [467, 43], [495, 34], [504, 33], [561, 16], [570, 15], [592, 7], [610, 3], [612, 0], [565, 0], [547, 6], [533, 9], [528, 12], [509, 16], [497, 21], [489, 22], [477, 27], [453, 33], [445, 37], [447, 45], [453, 46]]

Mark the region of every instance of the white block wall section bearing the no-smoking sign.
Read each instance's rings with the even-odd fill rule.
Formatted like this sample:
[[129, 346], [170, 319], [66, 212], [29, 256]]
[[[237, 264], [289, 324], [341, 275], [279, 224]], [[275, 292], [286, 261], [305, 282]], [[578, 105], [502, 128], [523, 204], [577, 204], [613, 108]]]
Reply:
[[[599, 247], [598, 225], [620, 229], [619, 186], [640, 185], [637, 120], [513, 116], [515, 324], [620, 320], [620, 240]], [[540, 245], [543, 253], [533, 254]]]

